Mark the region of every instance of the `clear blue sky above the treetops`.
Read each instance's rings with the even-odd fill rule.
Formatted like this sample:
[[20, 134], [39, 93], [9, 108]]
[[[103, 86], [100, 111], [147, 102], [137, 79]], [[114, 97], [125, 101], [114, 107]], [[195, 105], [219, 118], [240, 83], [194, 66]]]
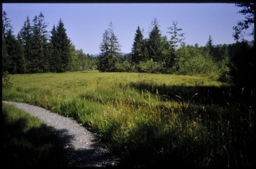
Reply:
[[68, 37], [76, 49], [84, 53], [100, 53], [102, 35], [112, 21], [114, 33], [122, 45], [121, 51], [129, 53], [137, 26], [148, 37], [154, 17], [159, 21], [162, 34], [167, 35], [172, 21], [185, 33], [186, 44], [205, 45], [209, 35], [213, 44], [235, 42], [232, 27], [244, 16], [234, 4], [3, 4], [16, 35], [26, 17], [32, 21], [41, 11], [48, 23], [48, 31], [62, 18]]

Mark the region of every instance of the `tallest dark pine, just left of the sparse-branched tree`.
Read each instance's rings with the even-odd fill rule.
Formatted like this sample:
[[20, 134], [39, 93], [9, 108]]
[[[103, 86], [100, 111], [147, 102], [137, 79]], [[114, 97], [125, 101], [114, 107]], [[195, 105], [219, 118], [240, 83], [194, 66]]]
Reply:
[[161, 58], [161, 33], [156, 18], [154, 18], [151, 25], [153, 29], [149, 33], [148, 53], [149, 59], [153, 59], [153, 61], [157, 62]]

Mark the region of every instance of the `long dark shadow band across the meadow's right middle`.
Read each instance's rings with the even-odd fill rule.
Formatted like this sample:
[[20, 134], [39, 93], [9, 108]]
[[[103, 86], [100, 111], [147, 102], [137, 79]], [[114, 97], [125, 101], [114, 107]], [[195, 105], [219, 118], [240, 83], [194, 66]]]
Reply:
[[129, 86], [140, 92], [146, 90], [152, 94], [158, 93], [162, 101], [186, 102], [192, 99], [194, 95], [194, 103], [226, 105], [235, 101], [253, 104], [252, 98], [254, 98], [254, 93], [251, 89], [235, 86], [167, 86], [165, 84], [156, 85], [145, 82], [131, 82]]

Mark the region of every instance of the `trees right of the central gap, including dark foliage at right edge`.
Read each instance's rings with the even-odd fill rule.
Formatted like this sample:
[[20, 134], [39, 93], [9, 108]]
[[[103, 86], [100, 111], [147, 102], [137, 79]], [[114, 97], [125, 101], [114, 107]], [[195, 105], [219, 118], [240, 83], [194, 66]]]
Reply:
[[[119, 54], [121, 45], [113, 32], [113, 23], [103, 34], [100, 45], [102, 51], [97, 58], [100, 71], [163, 73], [163, 74], [219, 74], [219, 80], [233, 82], [242, 87], [254, 86], [248, 75], [254, 74], [254, 30], [248, 28], [254, 24], [254, 4], [239, 3], [243, 7], [238, 13], [245, 15], [246, 20], [238, 21], [233, 27], [233, 44], [214, 45], [211, 35], [205, 46], [186, 45], [185, 33], [173, 21], [167, 33], [170, 40], [160, 31], [156, 18], [151, 22], [148, 38], [144, 37], [139, 26], [134, 35], [131, 53]], [[247, 31], [247, 32], [246, 32]], [[250, 36], [252, 41], [245, 40]]]

